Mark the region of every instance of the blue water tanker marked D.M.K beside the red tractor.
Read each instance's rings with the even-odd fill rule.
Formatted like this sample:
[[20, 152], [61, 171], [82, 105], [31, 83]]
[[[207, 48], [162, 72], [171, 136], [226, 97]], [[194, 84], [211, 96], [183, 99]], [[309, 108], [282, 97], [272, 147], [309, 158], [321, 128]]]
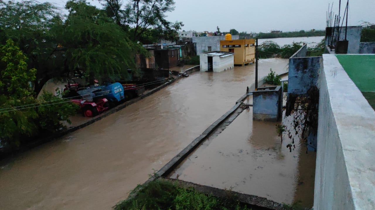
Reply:
[[124, 88], [118, 82], [105, 83], [104, 85], [98, 86], [96, 88], [98, 88], [98, 90], [93, 92], [95, 93], [95, 96], [98, 98], [107, 98], [111, 106], [115, 106], [116, 104], [118, 104], [118, 102], [125, 99]]

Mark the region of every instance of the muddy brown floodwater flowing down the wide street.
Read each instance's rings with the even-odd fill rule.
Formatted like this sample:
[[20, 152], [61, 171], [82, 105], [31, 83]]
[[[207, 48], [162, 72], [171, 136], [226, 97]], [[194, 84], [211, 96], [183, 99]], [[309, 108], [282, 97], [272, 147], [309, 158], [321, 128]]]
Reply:
[[[261, 59], [286, 72], [287, 59]], [[0, 164], [0, 209], [111, 209], [254, 83], [254, 65], [196, 72], [90, 126]]]

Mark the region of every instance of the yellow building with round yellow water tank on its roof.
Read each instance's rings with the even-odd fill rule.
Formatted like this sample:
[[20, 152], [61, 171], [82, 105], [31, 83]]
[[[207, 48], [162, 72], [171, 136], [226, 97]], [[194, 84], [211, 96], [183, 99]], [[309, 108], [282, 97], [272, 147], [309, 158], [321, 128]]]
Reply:
[[234, 65], [255, 62], [255, 39], [231, 40], [230, 34], [226, 34], [225, 38], [220, 41], [220, 51], [234, 52]]

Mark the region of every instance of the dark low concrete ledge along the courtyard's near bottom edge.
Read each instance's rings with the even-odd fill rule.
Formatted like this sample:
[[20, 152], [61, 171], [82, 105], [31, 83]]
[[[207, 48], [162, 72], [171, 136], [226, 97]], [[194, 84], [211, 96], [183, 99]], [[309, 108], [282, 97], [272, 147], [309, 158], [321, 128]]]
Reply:
[[283, 210], [284, 209], [283, 204], [277, 203], [275, 201], [268, 200], [267, 198], [259, 197], [256, 195], [248, 195], [248, 194], [243, 194], [240, 192], [234, 192], [234, 191], [229, 191], [225, 189], [199, 185], [196, 183], [185, 182], [183, 180], [178, 180], [178, 179], [166, 179], [166, 178], [163, 178], [163, 179], [171, 181], [171, 182], [177, 182], [179, 186], [182, 186], [184, 188], [192, 187], [196, 191], [202, 192], [207, 195], [213, 195], [219, 198], [234, 197], [238, 199], [240, 203], [248, 204], [251, 207], [254, 207], [255, 209], [264, 209], [264, 210], [266, 209], [267, 210]]

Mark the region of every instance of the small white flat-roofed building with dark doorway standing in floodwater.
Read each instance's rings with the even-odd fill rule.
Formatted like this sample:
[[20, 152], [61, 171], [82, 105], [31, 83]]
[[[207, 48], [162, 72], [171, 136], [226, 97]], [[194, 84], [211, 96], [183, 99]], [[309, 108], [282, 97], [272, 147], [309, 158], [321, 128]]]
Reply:
[[201, 71], [220, 72], [234, 67], [234, 53], [212, 51], [199, 55]]

